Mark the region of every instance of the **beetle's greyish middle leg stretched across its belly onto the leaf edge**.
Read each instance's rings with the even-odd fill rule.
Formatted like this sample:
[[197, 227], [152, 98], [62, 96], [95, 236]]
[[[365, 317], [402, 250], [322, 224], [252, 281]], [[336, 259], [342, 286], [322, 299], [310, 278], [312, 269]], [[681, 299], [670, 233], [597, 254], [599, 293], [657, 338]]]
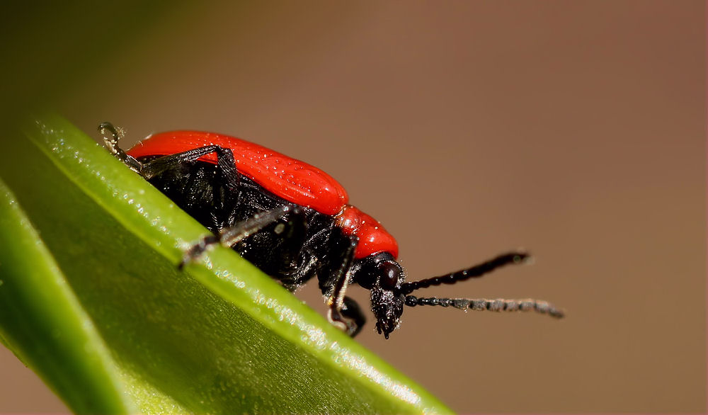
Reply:
[[295, 205], [276, 207], [275, 209], [268, 210], [267, 212], [257, 213], [250, 219], [239, 222], [235, 226], [222, 229], [219, 232], [218, 237], [215, 237], [214, 235], [207, 235], [185, 252], [182, 261], [179, 264], [179, 268], [183, 268], [183, 266], [187, 263], [194, 261], [213, 244], [220, 243], [230, 248], [235, 244], [238, 244], [243, 239], [250, 237], [252, 234], [260, 232], [269, 224], [277, 222], [284, 215], [288, 215], [290, 213], [298, 215], [300, 211], [300, 207]]

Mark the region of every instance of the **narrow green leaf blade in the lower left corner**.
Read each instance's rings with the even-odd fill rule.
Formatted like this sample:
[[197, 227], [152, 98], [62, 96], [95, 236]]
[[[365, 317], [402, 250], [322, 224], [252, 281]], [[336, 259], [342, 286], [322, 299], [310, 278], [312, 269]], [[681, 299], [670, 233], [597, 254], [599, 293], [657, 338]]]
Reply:
[[[127, 414], [103, 341], [36, 230], [0, 181], [0, 334], [74, 411]], [[22, 345], [21, 347], [13, 347]]]

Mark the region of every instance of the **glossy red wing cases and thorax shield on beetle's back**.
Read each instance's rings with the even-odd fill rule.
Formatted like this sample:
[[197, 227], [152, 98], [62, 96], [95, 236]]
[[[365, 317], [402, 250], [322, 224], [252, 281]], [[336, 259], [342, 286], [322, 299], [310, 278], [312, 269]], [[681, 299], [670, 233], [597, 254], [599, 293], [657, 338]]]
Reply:
[[[136, 159], [166, 156], [209, 145], [232, 150], [239, 173], [270, 193], [291, 203], [335, 216], [336, 225], [345, 234], [354, 234], [359, 238], [355, 258], [377, 252], [389, 252], [394, 258], [398, 257], [396, 239], [373, 217], [347, 205], [349, 197], [341, 184], [315, 166], [285, 154], [236, 137], [200, 131], [160, 132], [135, 144], [127, 154]], [[217, 164], [217, 154], [210, 153], [199, 160]]]

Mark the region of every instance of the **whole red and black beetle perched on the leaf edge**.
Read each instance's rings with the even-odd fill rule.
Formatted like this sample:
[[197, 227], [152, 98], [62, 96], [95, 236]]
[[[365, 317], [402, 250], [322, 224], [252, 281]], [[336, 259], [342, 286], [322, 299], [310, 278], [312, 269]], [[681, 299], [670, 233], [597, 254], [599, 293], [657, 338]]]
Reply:
[[431, 285], [455, 284], [496, 268], [525, 262], [513, 251], [453, 273], [406, 281], [396, 261], [396, 239], [373, 217], [348, 204], [346, 190], [329, 174], [252, 142], [212, 132], [151, 135], [125, 152], [122, 132], [98, 130], [105, 146], [176, 205], [209, 229], [185, 252], [180, 267], [212, 244], [230, 246], [290, 291], [316, 276], [329, 321], [355, 336], [365, 317], [348, 285], [371, 292], [376, 329], [386, 339], [404, 306], [436, 305], [491, 311], [564, 312], [540, 300], [416, 297]]

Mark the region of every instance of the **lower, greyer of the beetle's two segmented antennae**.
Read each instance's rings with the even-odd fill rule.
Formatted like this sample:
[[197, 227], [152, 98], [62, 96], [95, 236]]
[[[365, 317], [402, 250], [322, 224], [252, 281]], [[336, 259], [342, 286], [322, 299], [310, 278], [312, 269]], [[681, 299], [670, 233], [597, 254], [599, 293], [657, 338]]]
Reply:
[[406, 305], [409, 307], [416, 307], [416, 305], [439, 305], [440, 307], [455, 307], [462, 310], [473, 309], [494, 312], [524, 312], [533, 310], [558, 319], [565, 316], [564, 310], [557, 309], [549, 302], [532, 300], [531, 298], [525, 298], [523, 300], [505, 300], [503, 298], [487, 300], [486, 298], [418, 298], [415, 295], [406, 295]]

